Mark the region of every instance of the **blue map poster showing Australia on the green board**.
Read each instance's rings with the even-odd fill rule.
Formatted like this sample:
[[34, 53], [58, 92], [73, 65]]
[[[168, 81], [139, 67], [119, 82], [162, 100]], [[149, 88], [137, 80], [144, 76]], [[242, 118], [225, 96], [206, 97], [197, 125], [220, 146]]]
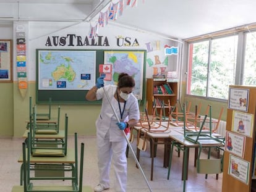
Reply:
[[38, 90], [90, 90], [95, 65], [96, 51], [40, 50]]

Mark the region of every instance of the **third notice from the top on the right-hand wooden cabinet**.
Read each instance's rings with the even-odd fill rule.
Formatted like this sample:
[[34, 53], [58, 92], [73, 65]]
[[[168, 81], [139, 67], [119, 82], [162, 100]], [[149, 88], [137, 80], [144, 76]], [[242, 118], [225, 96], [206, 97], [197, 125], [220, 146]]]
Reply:
[[226, 131], [225, 150], [244, 158], [245, 136]]

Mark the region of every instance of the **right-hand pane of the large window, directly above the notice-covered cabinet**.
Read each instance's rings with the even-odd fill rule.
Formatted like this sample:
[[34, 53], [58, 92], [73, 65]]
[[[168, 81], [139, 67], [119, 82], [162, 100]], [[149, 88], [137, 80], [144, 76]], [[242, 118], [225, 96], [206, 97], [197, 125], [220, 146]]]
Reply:
[[212, 40], [210, 51], [208, 97], [228, 99], [229, 85], [234, 85], [237, 35]]

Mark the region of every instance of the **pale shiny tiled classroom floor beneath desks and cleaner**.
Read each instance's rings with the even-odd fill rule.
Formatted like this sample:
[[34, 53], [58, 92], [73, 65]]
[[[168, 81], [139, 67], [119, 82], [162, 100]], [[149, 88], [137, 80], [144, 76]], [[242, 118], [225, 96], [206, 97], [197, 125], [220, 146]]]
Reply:
[[[20, 182], [20, 164], [17, 162], [22, 152], [23, 139], [0, 139], [0, 191], [9, 192], [13, 185], [19, 185]], [[83, 185], [95, 186], [98, 184], [98, 168], [96, 157], [96, 139], [79, 138], [79, 143], [85, 143], [85, 159], [83, 167]], [[68, 146], [74, 147], [74, 138], [69, 138]], [[132, 148], [136, 152], [135, 142]], [[154, 192], [182, 191], [183, 182], [181, 180], [182, 155], [177, 157], [176, 152], [173, 156], [170, 179], [167, 180], [168, 169], [163, 167], [163, 146], [158, 146], [157, 156], [155, 158], [153, 181], [150, 181], [151, 158], [149, 149], [140, 152], [140, 166], [147, 177], [148, 183]], [[111, 169], [111, 187], [114, 182], [114, 172]], [[197, 192], [220, 192], [222, 183], [222, 174], [216, 180], [216, 175], [198, 174], [194, 167], [194, 150], [190, 149], [189, 178], [187, 180], [186, 191]], [[129, 151], [128, 157], [128, 183], [127, 192], [150, 191], [143, 178], [142, 173], [135, 167], [134, 157]], [[110, 188], [108, 192], [114, 192]]]

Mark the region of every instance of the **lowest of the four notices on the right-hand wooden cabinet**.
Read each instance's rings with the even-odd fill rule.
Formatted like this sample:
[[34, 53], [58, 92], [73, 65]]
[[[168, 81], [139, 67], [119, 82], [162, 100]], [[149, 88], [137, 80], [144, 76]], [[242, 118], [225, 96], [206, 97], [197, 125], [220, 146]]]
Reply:
[[249, 170], [250, 162], [233, 156], [232, 154], [229, 155], [229, 175], [248, 185]]

